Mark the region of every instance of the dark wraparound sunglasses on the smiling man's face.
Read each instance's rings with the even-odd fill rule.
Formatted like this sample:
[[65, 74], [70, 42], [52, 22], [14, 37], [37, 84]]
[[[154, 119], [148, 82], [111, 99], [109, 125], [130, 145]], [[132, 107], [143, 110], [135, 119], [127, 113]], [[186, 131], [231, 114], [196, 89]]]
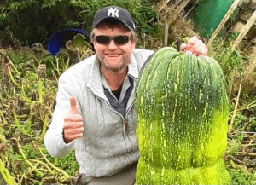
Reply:
[[96, 42], [101, 43], [102, 45], [108, 45], [110, 41], [113, 40], [115, 44], [117, 45], [124, 45], [125, 43], [128, 43], [131, 40], [131, 37], [120, 35], [115, 37], [108, 37], [108, 36], [96, 36]]

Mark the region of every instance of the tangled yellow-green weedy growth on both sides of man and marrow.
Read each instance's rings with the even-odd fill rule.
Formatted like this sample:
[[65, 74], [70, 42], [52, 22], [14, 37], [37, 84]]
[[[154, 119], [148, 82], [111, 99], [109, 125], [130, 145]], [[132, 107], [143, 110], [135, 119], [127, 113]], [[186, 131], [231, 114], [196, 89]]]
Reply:
[[[162, 45], [160, 40], [150, 45], [147, 39], [154, 41], [145, 35], [141, 48]], [[255, 184], [255, 58], [240, 50], [231, 51], [234, 39], [236, 35], [226, 41], [217, 38], [209, 54], [224, 70], [231, 105], [229, 124], [233, 119], [224, 160], [232, 184]], [[44, 147], [43, 138], [54, 111], [58, 78], [72, 60], [63, 51], [56, 58], [38, 61], [20, 48], [6, 49], [0, 62], [0, 165], [6, 181], [68, 184], [69, 176], [79, 173], [75, 151], [55, 159]]]

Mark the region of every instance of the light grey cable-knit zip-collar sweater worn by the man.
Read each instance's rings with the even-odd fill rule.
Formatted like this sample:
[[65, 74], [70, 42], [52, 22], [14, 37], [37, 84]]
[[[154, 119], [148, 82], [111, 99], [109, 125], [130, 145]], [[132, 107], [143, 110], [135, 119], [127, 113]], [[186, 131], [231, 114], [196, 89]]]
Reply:
[[[143, 63], [154, 51], [135, 49], [128, 75], [134, 88], [127, 102], [125, 118], [115, 111], [104, 94], [100, 63], [96, 55], [70, 67], [59, 78], [56, 106], [44, 145], [50, 155], [61, 157], [76, 149], [80, 173], [86, 176], [110, 176], [137, 162], [138, 150], [134, 108], [136, 80]], [[66, 144], [63, 141], [64, 117], [70, 110], [70, 97], [75, 95], [83, 117], [83, 137]], [[129, 130], [125, 131], [125, 122]]]

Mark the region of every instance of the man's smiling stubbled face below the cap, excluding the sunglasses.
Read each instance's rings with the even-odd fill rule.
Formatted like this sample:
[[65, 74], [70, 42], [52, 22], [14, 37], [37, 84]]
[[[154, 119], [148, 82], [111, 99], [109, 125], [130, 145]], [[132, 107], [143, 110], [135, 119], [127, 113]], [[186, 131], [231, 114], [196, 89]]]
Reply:
[[131, 34], [131, 31], [121, 23], [113, 27], [103, 23], [95, 28], [92, 43], [96, 49], [98, 60], [101, 62], [102, 70], [124, 72], [131, 62], [131, 55], [136, 43], [130, 40], [124, 45], [118, 45], [111, 40], [108, 45], [103, 45], [96, 42], [96, 36], [115, 37], [121, 35], [131, 37]]

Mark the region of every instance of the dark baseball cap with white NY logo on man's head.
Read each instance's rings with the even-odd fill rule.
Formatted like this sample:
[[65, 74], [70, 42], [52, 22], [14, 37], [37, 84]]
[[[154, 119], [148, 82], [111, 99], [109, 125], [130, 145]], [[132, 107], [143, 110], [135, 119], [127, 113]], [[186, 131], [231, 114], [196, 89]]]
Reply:
[[118, 6], [109, 6], [98, 10], [94, 16], [92, 28], [95, 28], [102, 20], [105, 19], [120, 20], [131, 31], [136, 29], [131, 14], [126, 9], [120, 8]]

